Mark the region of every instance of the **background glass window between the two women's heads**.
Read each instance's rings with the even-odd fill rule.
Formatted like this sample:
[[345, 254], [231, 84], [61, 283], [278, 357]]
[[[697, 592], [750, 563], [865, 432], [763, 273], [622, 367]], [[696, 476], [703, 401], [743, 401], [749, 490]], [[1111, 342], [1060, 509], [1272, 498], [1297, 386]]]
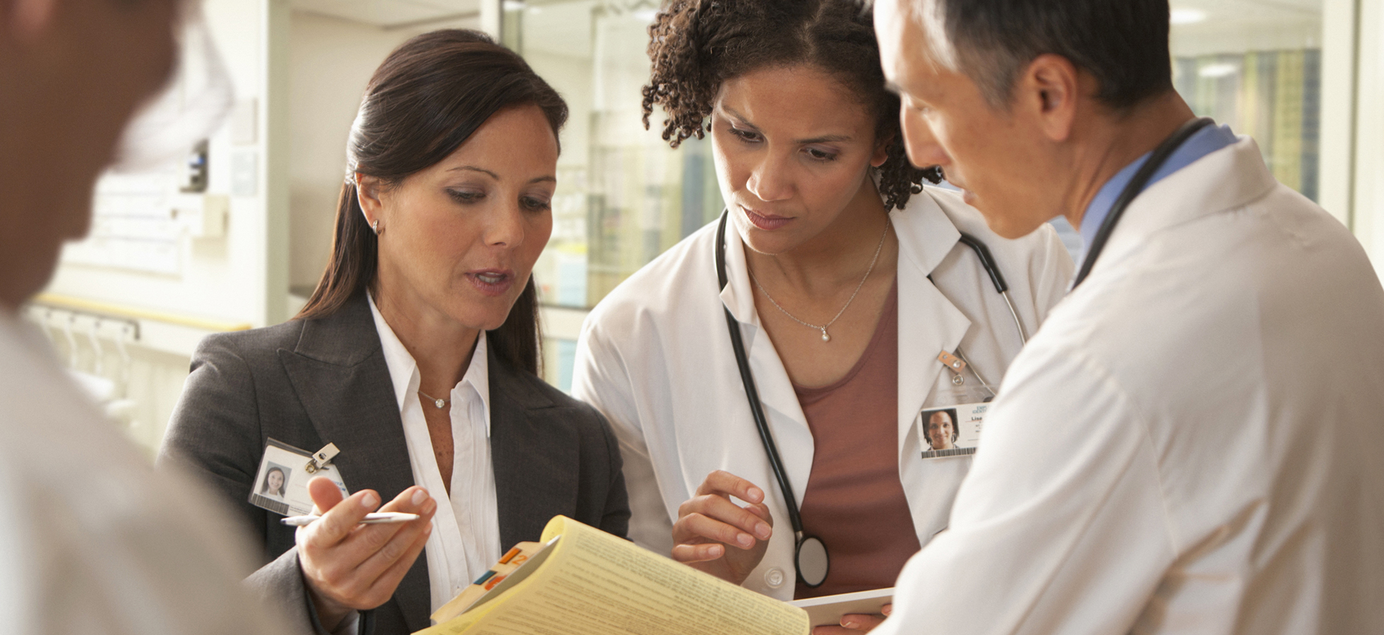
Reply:
[[534, 268], [544, 304], [588, 309], [649, 260], [720, 214], [710, 145], [677, 151], [639, 120], [657, 4], [505, 1], [505, 46], [567, 100], [554, 232]]

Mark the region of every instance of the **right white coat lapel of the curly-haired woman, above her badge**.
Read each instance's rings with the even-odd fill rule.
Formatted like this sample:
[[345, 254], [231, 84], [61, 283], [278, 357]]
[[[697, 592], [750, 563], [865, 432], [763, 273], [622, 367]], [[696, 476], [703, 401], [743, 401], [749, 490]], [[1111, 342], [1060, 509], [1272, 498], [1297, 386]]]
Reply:
[[[938, 385], [941, 351], [960, 344], [970, 320], [943, 295], [927, 275], [956, 246], [960, 231], [927, 194], [913, 195], [918, 205], [891, 212], [898, 235], [898, 448], [918, 411]], [[901, 214], [920, 214], [904, 223]]]

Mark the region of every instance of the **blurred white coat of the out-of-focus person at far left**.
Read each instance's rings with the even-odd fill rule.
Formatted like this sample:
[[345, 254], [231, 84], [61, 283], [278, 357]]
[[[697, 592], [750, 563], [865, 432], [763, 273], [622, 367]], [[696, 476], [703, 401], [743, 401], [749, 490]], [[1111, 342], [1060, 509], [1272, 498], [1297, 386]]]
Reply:
[[0, 631], [286, 632], [241, 585], [249, 544], [213, 498], [155, 473], [0, 309]]

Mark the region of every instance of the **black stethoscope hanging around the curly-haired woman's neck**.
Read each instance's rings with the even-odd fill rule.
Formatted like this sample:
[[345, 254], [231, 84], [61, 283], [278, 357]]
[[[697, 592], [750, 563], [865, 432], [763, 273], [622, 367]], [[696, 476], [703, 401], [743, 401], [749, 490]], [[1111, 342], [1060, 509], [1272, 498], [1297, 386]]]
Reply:
[[[727, 274], [725, 274], [725, 223], [729, 217], [729, 212], [721, 212], [721, 223], [716, 230], [716, 277], [721, 282], [721, 289], [725, 289]], [[980, 259], [981, 267], [990, 274], [990, 281], [995, 284], [995, 291], [1005, 299], [1005, 304], [1009, 306], [1009, 314], [1014, 318], [1014, 325], [1019, 328], [1019, 340], [1021, 343], [1028, 342], [1028, 333], [1024, 331], [1024, 324], [1019, 320], [1019, 311], [1014, 310], [1014, 303], [1009, 299], [1009, 285], [1005, 284], [1005, 277], [999, 274], [999, 268], [995, 267], [995, 261], [990, 255], [990, 248], [978, 238], [962, 232], [959, 241], [976, 252], [976, 257]], [[929, 275], [931, 279], [931, 275]], [[760, 430], [760, 441], [764, 443], [764, 454], [768, 455], [770, 468], [774, 470], [774, 480], [778, 481], [779, 491], [783, 494], [783, 504], [787, 505], [787, 520], [793, 526], [794, 551], [793, 563], [797, 567], [797, 580], [803, 584], [817, 588], [826, 581], [826, 573], [830, 570], [830, 558], [826, 553], [826, 544], [815, 535], [805, 535], [803, 531], [803, 516], [797, 509], [797, 498], [793, 497], [793, 486], [787, 481], [787, 473], [783, 469], [783, 459], [779, 458], [778, 444], [774, 443], [774, 434], [770, 432], [768, 419], [764, 416], [764, 405], [760, 403], [760, 392], [754, 387], [754, 375], [750, 372], [750, 360], [745, 353], [745, 340], [740, 338], [740, 322], [735, 320], [729, 309], [725, 310], [725, 325], [731, 332], [731, 349], [735, 350], [735, 365], [740, 369], [740, 382], [745, 383], [745, 398], [750, 403], [750, 414], [754, 415], [754, 426]]]

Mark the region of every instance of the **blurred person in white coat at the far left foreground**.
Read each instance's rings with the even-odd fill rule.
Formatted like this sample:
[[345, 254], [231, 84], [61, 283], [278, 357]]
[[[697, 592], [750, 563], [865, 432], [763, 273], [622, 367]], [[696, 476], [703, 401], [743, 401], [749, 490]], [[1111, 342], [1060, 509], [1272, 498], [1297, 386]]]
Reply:
[[11, 634], [277, 634], [210, 497], [145, 459], [19, 306], [136, 108], [174, 64], [179, 0], [0, 0], [0, 614]]

